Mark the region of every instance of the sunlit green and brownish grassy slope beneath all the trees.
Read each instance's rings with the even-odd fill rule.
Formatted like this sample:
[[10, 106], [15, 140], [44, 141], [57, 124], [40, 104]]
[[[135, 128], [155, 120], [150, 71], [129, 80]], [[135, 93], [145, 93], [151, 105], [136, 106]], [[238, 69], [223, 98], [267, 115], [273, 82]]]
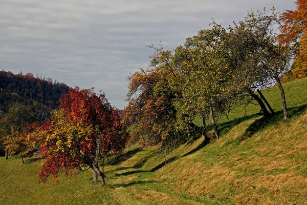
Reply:
[[41, 161], [0, 158], [0, 204], [304, 204], [307, 201], [307, 78], [284, 85], [292, 118], [282, 120], [278, 88], [264, 91], [278, 113], [244, 117], [238, 108], [222, 121], [223, 136], [190, 141], [163, 156], [130, 148], [106, 167], [108, 186], [94, 185], [91, 170], [76, 179], [38, 184]]

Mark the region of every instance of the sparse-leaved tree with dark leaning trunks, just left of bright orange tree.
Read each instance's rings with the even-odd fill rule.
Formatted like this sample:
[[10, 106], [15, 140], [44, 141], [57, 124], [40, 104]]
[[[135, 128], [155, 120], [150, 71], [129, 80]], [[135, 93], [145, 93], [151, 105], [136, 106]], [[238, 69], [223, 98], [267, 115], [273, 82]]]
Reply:
[[277, 16], [274, 8], [272, 11], [271, 15], [266, 15], [265, 11], [258, 14], [250, 12], [244, 21], [230, 28], [231, 38], [228, 44], [233, 65], [237, 68], [234, 88], [237, 88], [238, 92], [249, 93], [257, 100], [264, 114], [269, 116], [266, 106], [254, 94], [254, 90], [277, 84], [281, 93], [284, 119], [287, 119], [288, 109], [280, 77], [289, 71], [291, 50], [277, 44], [277, 37], [273, 33]]

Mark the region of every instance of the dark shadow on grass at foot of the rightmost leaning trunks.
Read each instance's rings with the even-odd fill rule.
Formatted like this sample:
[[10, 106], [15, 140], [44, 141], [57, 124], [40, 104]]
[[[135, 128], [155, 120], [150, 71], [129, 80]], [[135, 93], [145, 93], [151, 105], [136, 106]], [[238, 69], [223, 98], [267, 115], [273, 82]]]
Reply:
[[[307, 110], [307, 104], [293, 107], [288, 109], [288, 113], [290, 117], [296, 117], [302, 114], [304, 111]], [[283, 111], [278, 111], [275, 115], [271, 117], [261, 117], [260, 119], [255, 120], [245, 131], [240, 140], [247, 139], [257, 133], [260, 130], [265, 129], [268, 126], [276, 125], [278, 122], [283, 120]]]

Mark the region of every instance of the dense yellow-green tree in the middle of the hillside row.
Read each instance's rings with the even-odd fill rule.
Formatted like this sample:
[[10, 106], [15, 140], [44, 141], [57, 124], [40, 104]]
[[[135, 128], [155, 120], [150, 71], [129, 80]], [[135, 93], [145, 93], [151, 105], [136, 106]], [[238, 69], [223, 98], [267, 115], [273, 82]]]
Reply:
[[178, 118], [190, 121], [201, 116], [205, 121], [209, 116], [216, 138], [220, 137], [216, 117], [227, 115], [234, 103], [229, 90], [233, 68], [226, 47], [228, 35], [213, 22], [212, 29], [187, 38], [174, 55], [176, 81], [182, 89], [182, 97], [176, 100]]

